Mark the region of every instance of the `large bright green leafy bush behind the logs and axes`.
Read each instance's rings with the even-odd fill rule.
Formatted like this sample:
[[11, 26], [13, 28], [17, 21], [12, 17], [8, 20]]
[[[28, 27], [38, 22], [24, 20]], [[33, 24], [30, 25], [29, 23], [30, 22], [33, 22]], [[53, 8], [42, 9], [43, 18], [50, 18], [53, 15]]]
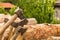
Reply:
[[[23, 9], [27, 18], [36, 18], [38, 23], [51, 23], [53, 21], [55, 0], [5, 0]], [[11, 12], [12, 13], [12, 12]]]

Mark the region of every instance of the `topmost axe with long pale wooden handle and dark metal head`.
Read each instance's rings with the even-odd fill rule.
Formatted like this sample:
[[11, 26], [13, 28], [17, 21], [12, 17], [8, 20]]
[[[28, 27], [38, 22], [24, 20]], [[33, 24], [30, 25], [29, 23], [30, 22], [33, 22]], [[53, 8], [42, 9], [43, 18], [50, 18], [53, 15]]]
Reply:
[[[22, 15], [22, 9], [20, 9], [19, 7], [15, 10], [14, 12], [14, 15], [11, 17], [11, 19], [5, 24], [2, 26], [2, 28], [0, 29], [0, 35], [2, 35], [4, 33], [4, 31], [9, 27], [9, 25], [11, 25], [14, 20], [19, 17], [20, 19], [22, 19], [21, 15]], [[21, 17], [20, 17], [21, 16]]]

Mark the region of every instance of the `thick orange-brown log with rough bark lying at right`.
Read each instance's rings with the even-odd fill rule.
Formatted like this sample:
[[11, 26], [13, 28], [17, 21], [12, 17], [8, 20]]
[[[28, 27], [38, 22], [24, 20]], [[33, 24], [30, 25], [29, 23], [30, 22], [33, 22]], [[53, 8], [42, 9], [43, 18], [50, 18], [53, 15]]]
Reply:
[[60, 34], [60, 26], [55, 25], [30, 25], [30, 29], [23, 35], [23, 40], [41, 40]]

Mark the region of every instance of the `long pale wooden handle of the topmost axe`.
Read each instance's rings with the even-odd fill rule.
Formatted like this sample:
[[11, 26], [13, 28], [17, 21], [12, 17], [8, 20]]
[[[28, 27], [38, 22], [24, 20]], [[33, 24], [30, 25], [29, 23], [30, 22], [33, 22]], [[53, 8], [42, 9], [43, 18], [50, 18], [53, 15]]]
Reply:
[[12, 24], [16, 18], [17, 18], [17, 15], [14, 14], [12, 18], [5, 25], [3, 25], [2, 28], [0, 28], [0, 35], [4, 33], [6, 28], [8, 28], [8, 26]]

